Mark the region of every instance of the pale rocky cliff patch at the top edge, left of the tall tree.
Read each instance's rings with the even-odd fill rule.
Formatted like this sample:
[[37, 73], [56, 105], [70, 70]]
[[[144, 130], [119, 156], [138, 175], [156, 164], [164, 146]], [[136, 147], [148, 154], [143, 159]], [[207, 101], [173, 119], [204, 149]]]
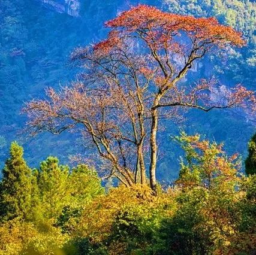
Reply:
[[67, 13], [70, 16], [78, 17], [80, 11], [79, 0], [40, 0], [47, 8], [51, 8], [58, 13]]

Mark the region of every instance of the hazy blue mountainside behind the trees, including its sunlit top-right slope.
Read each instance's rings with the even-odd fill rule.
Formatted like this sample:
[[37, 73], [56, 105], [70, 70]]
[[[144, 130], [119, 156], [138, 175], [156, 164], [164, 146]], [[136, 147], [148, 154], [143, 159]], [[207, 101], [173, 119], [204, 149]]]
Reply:
[[[76, 79], [78, 70], [67, 65], [74, 47], [98, 42], [106, 37], [104, 22], [131, 5], [154, 5], [165, 11], [194, 16], [215, 16], [219, 22], [243, 32], [248, 41], [242, 49], [230, 49], [225, 56], [207, 56], [198, 62], [188, 83], [200, 77], [217, 77], [225, 86], [241, 83], [255, 90], [256, 10], [255, 1], [238, 0], [0, 0], [0, 166], [4, 165], [10, 142], [25, 148], [32, 167], [49, 155], [67, 163], [69, 156], [86, 153], [76, 134], [43, 134], [27, 138], [20, 131], [26, 116], [20, 115], [24, 102], [42, 98], [47, 86], [58, 88]], [[241, 110], [201, 113], [191, 111], [177, 126], [163, 123], [159, 133], [158, 178], [177, 176], [179, 146], [170, 136], [185, 129], [207, 139], [224, 142], [228, 153], [246, 156], [246, 145], [255, 132], [256, 120]], [[86, 144], [86, 141], [83, 141]]]

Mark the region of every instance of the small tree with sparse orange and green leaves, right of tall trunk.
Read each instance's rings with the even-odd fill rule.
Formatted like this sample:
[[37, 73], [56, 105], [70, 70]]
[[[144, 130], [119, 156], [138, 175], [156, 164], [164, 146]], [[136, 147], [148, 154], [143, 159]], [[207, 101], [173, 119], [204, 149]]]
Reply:
[[177, 184], [220, 189], [222, 185], [233, 185], [233, 181], [237, 180], [240, 160], [237, 154], [227, 157], [222, 149], [223, 144], [200, 139], [200, 135], [188, 136], [184, 132], [176, 139], [185, 150], [187, 162], [181, 163]]

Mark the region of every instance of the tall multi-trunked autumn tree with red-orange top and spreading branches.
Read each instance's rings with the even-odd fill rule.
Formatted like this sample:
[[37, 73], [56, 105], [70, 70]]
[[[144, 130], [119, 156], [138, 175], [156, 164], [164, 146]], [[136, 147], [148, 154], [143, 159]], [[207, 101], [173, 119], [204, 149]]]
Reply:
[[237, 85], [221, 95], [218, 82], [183, 79], [209, 51], [242, 47], [242, 35], [214, 18], [164, 13], [138, 5], [106, 22], [106, 40], [79, 47], [71, 63], [83, 68], [79, 80], [47, 99], [26, 104], [32, 134], [77, 130], [94, 145], [109, 176], [126, 186], [156, 189], [159, 120], [176, 119], [197, 108], [255, 104], [253, 92]]

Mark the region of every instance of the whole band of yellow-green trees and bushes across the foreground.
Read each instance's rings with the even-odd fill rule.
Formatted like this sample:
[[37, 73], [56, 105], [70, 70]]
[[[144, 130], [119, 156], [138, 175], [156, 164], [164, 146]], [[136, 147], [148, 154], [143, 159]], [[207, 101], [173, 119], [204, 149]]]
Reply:
[[[185, 151], [172, 187], [105, 191], [94, 169], [48, 157], [31, 169], [11, 144], [1, 181], [0, 254], [251, 254], [256, 175], [237, 154], [181, 133]], [[7, 175], [8, 172], [8, 175]]]

